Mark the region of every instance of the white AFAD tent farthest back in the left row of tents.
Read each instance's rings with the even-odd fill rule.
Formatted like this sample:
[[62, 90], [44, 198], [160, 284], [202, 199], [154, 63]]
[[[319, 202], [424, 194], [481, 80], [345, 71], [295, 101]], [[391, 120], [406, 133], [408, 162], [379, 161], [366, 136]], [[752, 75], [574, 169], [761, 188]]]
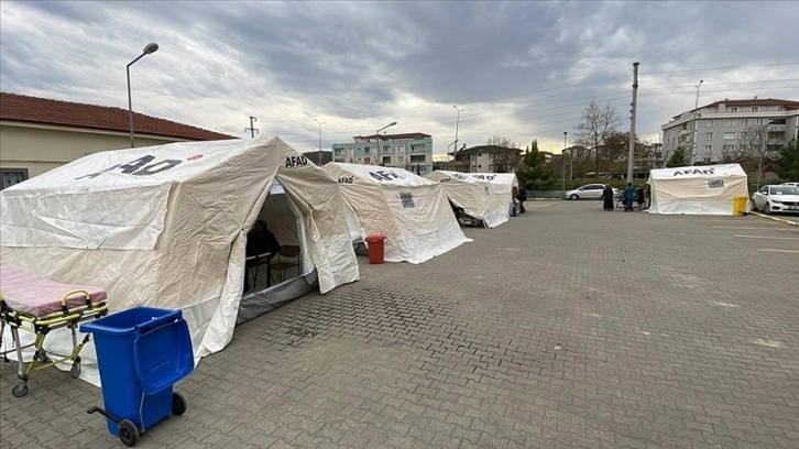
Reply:
[[437, 169], [427, 176], [444, 186], [444, 191], [456, 207], [468, 216], [481, 220], [486, 228], [497, 227], [508, 220], [511, 193], [501, 184], [492, 183], [485, 176], [472, 173]]

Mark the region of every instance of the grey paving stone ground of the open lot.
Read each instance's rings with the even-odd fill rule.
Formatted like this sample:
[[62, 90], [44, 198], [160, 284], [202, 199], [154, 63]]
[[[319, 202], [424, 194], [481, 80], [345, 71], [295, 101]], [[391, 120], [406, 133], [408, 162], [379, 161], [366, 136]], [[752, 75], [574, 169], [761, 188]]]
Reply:
[[[799, 230], [528, 205], [240, 326], [138, 447], [799, 448]], [[0, 366], [0, 447], [121, 446], [36, 374]]]

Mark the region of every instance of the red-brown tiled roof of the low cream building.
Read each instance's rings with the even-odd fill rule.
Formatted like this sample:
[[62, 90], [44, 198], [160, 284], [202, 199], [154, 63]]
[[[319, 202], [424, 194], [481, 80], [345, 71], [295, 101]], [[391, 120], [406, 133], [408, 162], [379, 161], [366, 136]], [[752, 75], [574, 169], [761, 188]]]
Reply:
[[[26, 95], [0, 92], [0, 120], [129, 132], [128, 110]], [[136, 133], [188, 140], [236, 139], [232, 135], [133, 112]]]

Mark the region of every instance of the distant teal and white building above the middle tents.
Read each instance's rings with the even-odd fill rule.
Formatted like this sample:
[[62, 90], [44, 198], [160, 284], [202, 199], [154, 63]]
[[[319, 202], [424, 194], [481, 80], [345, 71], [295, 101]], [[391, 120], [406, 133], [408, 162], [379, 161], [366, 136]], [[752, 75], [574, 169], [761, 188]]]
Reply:
[[406, 134], [355, 135], [352, 143], [333, 143], [333, 162], [405, 168], [422, 176], [433, 172], [433, 136]]

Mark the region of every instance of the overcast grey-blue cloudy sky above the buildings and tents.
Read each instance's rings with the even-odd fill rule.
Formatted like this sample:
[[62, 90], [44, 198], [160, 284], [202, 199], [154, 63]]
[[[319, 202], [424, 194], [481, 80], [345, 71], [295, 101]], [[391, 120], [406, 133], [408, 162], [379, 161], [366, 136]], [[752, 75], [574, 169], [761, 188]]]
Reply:
[[560, 151], [581, 111], [610, 103], [637, 132], [699, 102], [799, 100], [799, 2], [0, 3], [2, 91], [133, 109], [299, 151], [391, 132], [492, 135]]

